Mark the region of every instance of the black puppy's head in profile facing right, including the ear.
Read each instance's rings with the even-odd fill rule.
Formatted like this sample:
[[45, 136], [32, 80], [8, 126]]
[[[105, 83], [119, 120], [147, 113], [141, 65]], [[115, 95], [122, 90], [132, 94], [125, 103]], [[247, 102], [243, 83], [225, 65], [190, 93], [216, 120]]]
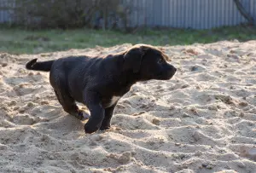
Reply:
[[160, 49], [137, 44], [125, 53], [123, 70], [137, 74], [139, 80], [168, 80], [177, 69], [167, 62], [167, 55]]

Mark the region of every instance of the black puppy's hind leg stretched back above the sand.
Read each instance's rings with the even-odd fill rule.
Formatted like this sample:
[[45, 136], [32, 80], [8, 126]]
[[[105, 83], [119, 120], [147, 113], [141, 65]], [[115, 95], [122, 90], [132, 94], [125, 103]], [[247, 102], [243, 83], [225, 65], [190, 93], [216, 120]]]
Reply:
[[79, 120], [89, 118], [89, 116], [86, 115], [84, 111], [79, 110], [79, 107], [76, 105], [73, 98], [70, 95], [68, 95], [67, 92], [65, 92], [64, 90], [55, 89], [55, 95], [57, 96], [57, 99], [61, 103], [61, 106], [63, 107], [65, 112], [73, 115], [75, 118], [78, 118]]

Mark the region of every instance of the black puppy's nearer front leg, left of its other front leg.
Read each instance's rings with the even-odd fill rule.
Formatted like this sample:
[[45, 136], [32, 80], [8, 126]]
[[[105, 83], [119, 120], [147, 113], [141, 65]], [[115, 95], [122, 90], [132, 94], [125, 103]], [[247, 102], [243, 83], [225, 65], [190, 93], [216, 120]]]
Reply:
[[95, 92], [84, 92], [84, 104], [90, 110], [90, 118], [84, 125], [84, 131], [85, 133], [93, 133], [100, 129], [105, 109], [102, 107], [99, 95]]

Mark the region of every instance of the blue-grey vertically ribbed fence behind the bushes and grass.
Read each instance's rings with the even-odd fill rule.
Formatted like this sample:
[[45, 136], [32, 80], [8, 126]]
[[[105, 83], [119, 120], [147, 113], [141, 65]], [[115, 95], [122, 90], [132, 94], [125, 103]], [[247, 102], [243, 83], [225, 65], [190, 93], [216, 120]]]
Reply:
[[[256, 21], [256, 0], [240, 2]], [[247, 22], [234, 0], [123, 0], [123, 3], [136, 7], [129, 18], [131, 27], [210, 29]], [[0, 0], [0, 23], [14, 23], [14, 13], [15, 0]]]

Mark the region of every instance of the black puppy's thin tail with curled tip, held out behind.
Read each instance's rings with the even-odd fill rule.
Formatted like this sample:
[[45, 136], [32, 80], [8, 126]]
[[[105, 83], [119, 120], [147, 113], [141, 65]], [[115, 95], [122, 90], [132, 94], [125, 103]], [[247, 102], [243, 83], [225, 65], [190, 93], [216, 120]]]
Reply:
[[33, 59], [26, 63], [27, 70], [36, 70], [49, 72], [54, 61], [37, 62], [38, 59]]

